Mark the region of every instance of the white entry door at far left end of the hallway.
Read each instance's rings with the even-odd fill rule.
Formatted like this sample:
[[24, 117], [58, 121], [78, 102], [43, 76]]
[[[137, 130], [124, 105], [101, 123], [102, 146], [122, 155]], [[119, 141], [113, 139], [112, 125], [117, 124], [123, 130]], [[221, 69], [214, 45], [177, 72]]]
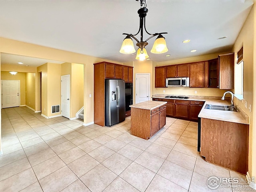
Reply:
[[2, 80], [2, 108], [20, 106], [20, 81]]

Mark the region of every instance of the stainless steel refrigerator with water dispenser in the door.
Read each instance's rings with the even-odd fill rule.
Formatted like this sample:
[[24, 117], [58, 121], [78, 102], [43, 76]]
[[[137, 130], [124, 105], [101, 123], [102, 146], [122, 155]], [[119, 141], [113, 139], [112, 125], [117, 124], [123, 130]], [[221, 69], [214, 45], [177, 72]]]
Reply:
[[105, 80], [105, 125], [112, 126], [125, 120], [124, 80]]

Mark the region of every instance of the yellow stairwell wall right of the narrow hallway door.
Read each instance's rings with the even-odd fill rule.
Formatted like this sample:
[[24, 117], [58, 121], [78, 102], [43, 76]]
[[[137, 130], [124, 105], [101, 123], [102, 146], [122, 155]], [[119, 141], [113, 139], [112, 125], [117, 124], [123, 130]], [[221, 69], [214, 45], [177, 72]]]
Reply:
[[72, 63], [70, 118], [84, 106], [84, 65]]

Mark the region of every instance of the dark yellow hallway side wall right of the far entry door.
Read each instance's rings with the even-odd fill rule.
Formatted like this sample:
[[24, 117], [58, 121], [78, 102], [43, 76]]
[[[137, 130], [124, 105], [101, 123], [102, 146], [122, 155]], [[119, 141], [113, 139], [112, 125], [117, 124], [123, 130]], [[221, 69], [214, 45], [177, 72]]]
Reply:
[[26, 106], [36, 108], [36, 74], [26, 73]]

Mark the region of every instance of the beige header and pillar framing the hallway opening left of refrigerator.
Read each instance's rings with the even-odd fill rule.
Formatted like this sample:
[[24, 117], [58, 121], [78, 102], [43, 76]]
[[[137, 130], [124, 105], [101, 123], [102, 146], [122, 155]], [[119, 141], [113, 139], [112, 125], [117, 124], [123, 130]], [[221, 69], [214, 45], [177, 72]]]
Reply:
[[[44, 46], [38, 46], [35, 44], [29, 44], [25, 42], [20, 42], [16, 40], [10, 40], [6, 38], [0, 38], [0, 52], [9, 53], [9, 54], [17, 54], [24, 55], [36, 58], [44, 58], [49, 60], [57, 60], [57, 61], [66, 61], [70, 63], [79, 63], [84, 64], [84, 123], [88, 124], [94, 121], [93, 116], [93, 64], [97, 62], [114, 62], [117, 64], [122, 64], [121, 62], [116, 62], [112, 60], [106, 60], [102, 58], [96, 58], [92, 56], [87, 56], [83, 54], [77, 54], [74, 52], [68, 52], [63, 50], [57, 50], [54, 48], [48, 48]], [[40, 110], [40, 95], [38, 95], [38, 89], [40, 89], [40, 85], [38, 85], [38, 74], [36, 74], [36, 110]], [[92, 94], [90, 98], [89, 95]], [[47, 106], [46, 110], [47, 110]], [[44, 114], [44, 110], [42, 110]]]

